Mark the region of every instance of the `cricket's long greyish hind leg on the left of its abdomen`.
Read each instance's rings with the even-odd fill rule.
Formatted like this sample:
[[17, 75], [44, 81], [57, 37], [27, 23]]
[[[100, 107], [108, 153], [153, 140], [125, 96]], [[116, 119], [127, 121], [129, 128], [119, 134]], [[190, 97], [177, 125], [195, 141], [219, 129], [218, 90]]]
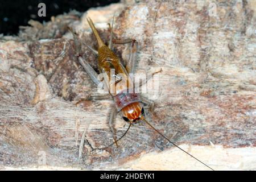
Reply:
[[[75, 48], [76, 48], [76, 56], [79, 60], [79, 63], [82, 65], [82, 67], [84, 67], [86, 73], [88, 73], [90, 78], [92, 78], [92, 81], [94, 82], [94, 84], [96, 84], [97, 86], [99, 84], [102, 85], [102, 82], [100, 80], [98, 80], [98, 73], [96, 71], [94, 71], [94, 69], [90, 66], [90, 64], [82, 57], [82, 55], [81, 55], [81, 43], [80, 43], [79, 39], [77, 38], [77, 35], [75, 34], [75, 32], [73, 32], [73, 30], [71, 28], [69, 28], [69, 31], [71, 31], [71, 33], [73, 34], [73, 38], [74, 38], [74, 42], [75, 42]], [[92, 49], [94, 53], [97, 53], [97, 51], [94, 50], [93, 48], [91, 48], [91, 47], [89, 47], [89, 48]]]

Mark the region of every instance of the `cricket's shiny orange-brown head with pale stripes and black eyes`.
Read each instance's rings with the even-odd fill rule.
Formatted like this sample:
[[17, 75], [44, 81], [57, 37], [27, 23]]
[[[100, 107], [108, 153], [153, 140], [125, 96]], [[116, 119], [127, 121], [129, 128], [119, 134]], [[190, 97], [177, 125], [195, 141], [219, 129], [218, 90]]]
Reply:
[[144, 109], [140, 102], [131, 103], [122, 109], [123, 120], [136, 123], [144, 116]]

